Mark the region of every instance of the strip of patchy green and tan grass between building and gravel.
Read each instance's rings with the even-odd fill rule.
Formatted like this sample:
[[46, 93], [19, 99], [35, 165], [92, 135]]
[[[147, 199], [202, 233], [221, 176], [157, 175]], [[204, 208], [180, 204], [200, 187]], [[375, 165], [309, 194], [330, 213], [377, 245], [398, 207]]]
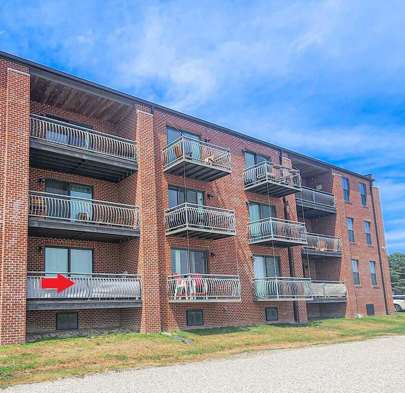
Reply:
[[72, 338], [0, 347], [0, 387], [129, 367], [224, 357], [405, 334], [405, 313], [361, 319], [326, 319], [307, 325], [262, 324], [172, 332], [189, 344], [160, 334]]

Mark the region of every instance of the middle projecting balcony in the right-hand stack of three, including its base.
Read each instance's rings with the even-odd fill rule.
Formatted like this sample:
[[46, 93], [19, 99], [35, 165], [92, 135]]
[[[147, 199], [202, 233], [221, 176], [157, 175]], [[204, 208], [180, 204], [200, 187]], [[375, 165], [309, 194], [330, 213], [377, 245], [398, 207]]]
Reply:
[[252, 221], [248, 224], [249, 244], [273, 247], [305, 246], [307, 229], [298, 221], [268, 219]]

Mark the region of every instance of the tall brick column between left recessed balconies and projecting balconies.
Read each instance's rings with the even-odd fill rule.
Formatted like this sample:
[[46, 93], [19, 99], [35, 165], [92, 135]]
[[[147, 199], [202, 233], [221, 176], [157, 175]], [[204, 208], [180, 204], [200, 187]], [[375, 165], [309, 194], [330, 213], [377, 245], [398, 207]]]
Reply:
[[[142, 275], [142, 317], [140, 331], [161, 330], [159, 250], [156, 202], [156, 164], [153, 115], [136, 111], [138, 177], [136, 201], [140, 209], [138, 271]], [[163, 225], [163, 223], [159, 223]]]

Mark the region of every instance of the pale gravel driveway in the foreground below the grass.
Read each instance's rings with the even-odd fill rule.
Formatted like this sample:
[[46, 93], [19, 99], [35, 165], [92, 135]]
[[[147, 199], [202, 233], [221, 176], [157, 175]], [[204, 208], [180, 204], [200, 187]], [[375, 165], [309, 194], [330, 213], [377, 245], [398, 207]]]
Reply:
[[5, 392], [405, 392], [405, 336], [20, 385]]

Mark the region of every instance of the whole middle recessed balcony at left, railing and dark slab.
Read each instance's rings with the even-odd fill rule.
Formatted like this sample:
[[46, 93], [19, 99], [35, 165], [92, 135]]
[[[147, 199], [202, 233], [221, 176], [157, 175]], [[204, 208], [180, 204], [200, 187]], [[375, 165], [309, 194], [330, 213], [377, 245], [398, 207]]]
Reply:
[[139, 208], [30, 191], [28, 233], [33, 236], [117, 243], [139, 236]]

